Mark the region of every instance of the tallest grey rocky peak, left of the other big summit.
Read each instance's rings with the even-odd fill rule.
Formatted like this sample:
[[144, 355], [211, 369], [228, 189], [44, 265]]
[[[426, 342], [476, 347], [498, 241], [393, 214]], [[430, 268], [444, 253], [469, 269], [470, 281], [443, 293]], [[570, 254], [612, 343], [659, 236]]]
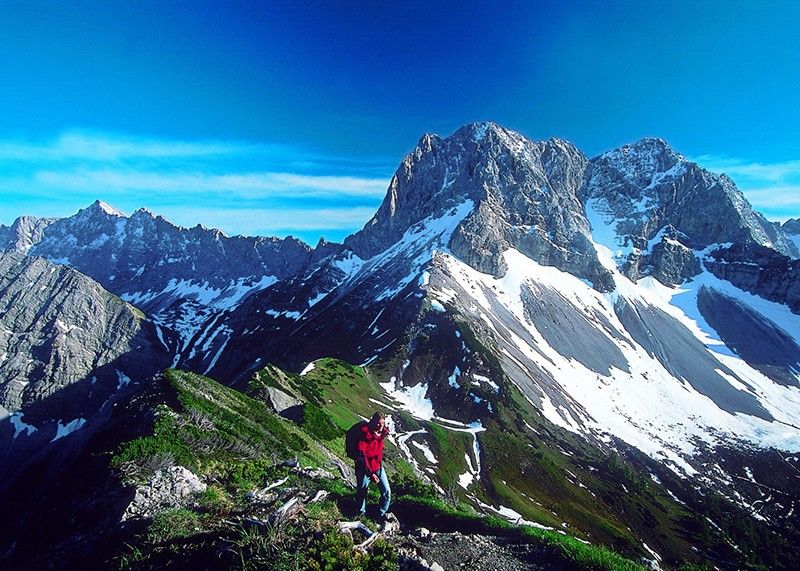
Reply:
[[500, 254], [515, 248], [607, 289], [577, 197], [586, 165], [566, 141], [534, 142], [494, 123], [467, 125], [444, 139], [425, 135], [401, 163], [378, 212], [345, 244], [370, 258], [414, 224], [469, 201], [472, 211], [448, 246], [472, 267], [503, 275]]

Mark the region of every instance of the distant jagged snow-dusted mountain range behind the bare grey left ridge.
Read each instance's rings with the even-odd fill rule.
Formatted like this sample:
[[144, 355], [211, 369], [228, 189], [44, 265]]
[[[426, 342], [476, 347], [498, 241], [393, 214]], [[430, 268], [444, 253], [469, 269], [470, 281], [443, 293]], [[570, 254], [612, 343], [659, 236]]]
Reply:
[[60, 220], [20, 218], [0, 228], [0, 243], [3, 236], [7, 250], [74, 267], [173, 331], [175, 362], [198, 323], [293, 275], [313, 256], [294, 238], [230, 238], [199, 225], [179, 228], [144, 209], [125, 217], [100, 201]]

